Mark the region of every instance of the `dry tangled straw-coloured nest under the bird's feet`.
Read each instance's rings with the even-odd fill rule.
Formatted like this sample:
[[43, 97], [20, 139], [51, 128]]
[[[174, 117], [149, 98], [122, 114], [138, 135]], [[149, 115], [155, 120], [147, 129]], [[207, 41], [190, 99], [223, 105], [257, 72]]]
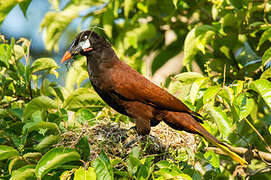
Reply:
[[99, 121], [95, 126], [83, 124], [81, 128], [73, 129], [62, 134], [62, 139], [56, 146], [76, 147], [76, 144], [85, 136], [90, 145], [89, 160], [95, 159], [101, 150], [109, 158], [126, 158], [135, 146], [141, 148], [143, 156], [160, 156], [159, 160], [171, 156], [169, 152], [189, 148], [196, 151], [197, 142], [193, 134], [176, 131], [163, 122], [152, 127], [149, 136], [144, 136], [128, 147], [125, 144], [138, 137], [133, 123], [115, 123], [109, 120]]

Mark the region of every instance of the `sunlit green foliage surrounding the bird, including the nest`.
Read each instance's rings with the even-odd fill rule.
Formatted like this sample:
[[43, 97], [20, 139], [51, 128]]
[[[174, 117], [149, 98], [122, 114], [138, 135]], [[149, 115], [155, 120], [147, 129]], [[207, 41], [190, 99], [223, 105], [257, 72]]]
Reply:
[[[26, 15], [31, 2], [0, 0], [0, 22], [18, 5]], [[2, 34], [0, 179], [271, 178], [269, 1], [49, 2], [51, 10], [40, 23], [49, 52], [58, 51], [60, 38], [79, 18], [144, 75], [154, 75], [183, 53], [183, 67], [162, 86], [202, 114], [213, 135], [243, 147], [236, 151], [249, 166], [238, 166], [197, 136], [168, 129], [161, 137], [167, 128], [163, 125], [154, 140], [125, 148], [127, 138], [135, 135], [130, 119], [94, 93], [84, 58], [68, 68], [61, 86], [57, 59], [32, 58], [30, 40]], [[173, 40], [168, 43], [169, 32]], [[75, 34], [67, 38], [67, 46]], [[165, 146], [163, 139], [169, 136]], [[177, 146], [176, 139], [184, 142]]]

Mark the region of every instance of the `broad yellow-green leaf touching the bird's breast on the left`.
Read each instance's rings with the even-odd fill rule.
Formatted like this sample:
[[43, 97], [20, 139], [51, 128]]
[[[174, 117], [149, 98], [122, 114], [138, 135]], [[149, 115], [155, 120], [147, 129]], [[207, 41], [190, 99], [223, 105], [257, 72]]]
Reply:
[[89, 88], [79, 88], [73, 91], [64, 101], [63, 107], [75, 110], [83, 107], [95, 107], [100, 98]]

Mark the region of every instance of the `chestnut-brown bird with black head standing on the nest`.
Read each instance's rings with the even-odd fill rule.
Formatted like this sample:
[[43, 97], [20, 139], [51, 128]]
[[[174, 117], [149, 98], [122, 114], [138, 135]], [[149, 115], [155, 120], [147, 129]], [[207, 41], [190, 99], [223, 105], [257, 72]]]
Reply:
[[248, 164], [201, 125], [203, 118], [199, 113], [121, 61], [112, 45], [94, 30], [81, 31], [61, 63], [77, 55], [87, 58], [94, 90], [114, 110], [133, 118], [139, 135], [148, 135], [151, 127], [164, 121], [175, 130], [199, 134], [241, 165]]

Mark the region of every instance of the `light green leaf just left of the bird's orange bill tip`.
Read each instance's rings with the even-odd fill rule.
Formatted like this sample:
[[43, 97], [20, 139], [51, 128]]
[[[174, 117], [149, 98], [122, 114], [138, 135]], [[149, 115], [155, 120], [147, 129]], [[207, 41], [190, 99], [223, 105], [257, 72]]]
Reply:
[[35, 60], [31, 67], [31, 72], [35, 73], [43, 70], [51, 70], [59, 68], [52, 58], [39, 58]]

